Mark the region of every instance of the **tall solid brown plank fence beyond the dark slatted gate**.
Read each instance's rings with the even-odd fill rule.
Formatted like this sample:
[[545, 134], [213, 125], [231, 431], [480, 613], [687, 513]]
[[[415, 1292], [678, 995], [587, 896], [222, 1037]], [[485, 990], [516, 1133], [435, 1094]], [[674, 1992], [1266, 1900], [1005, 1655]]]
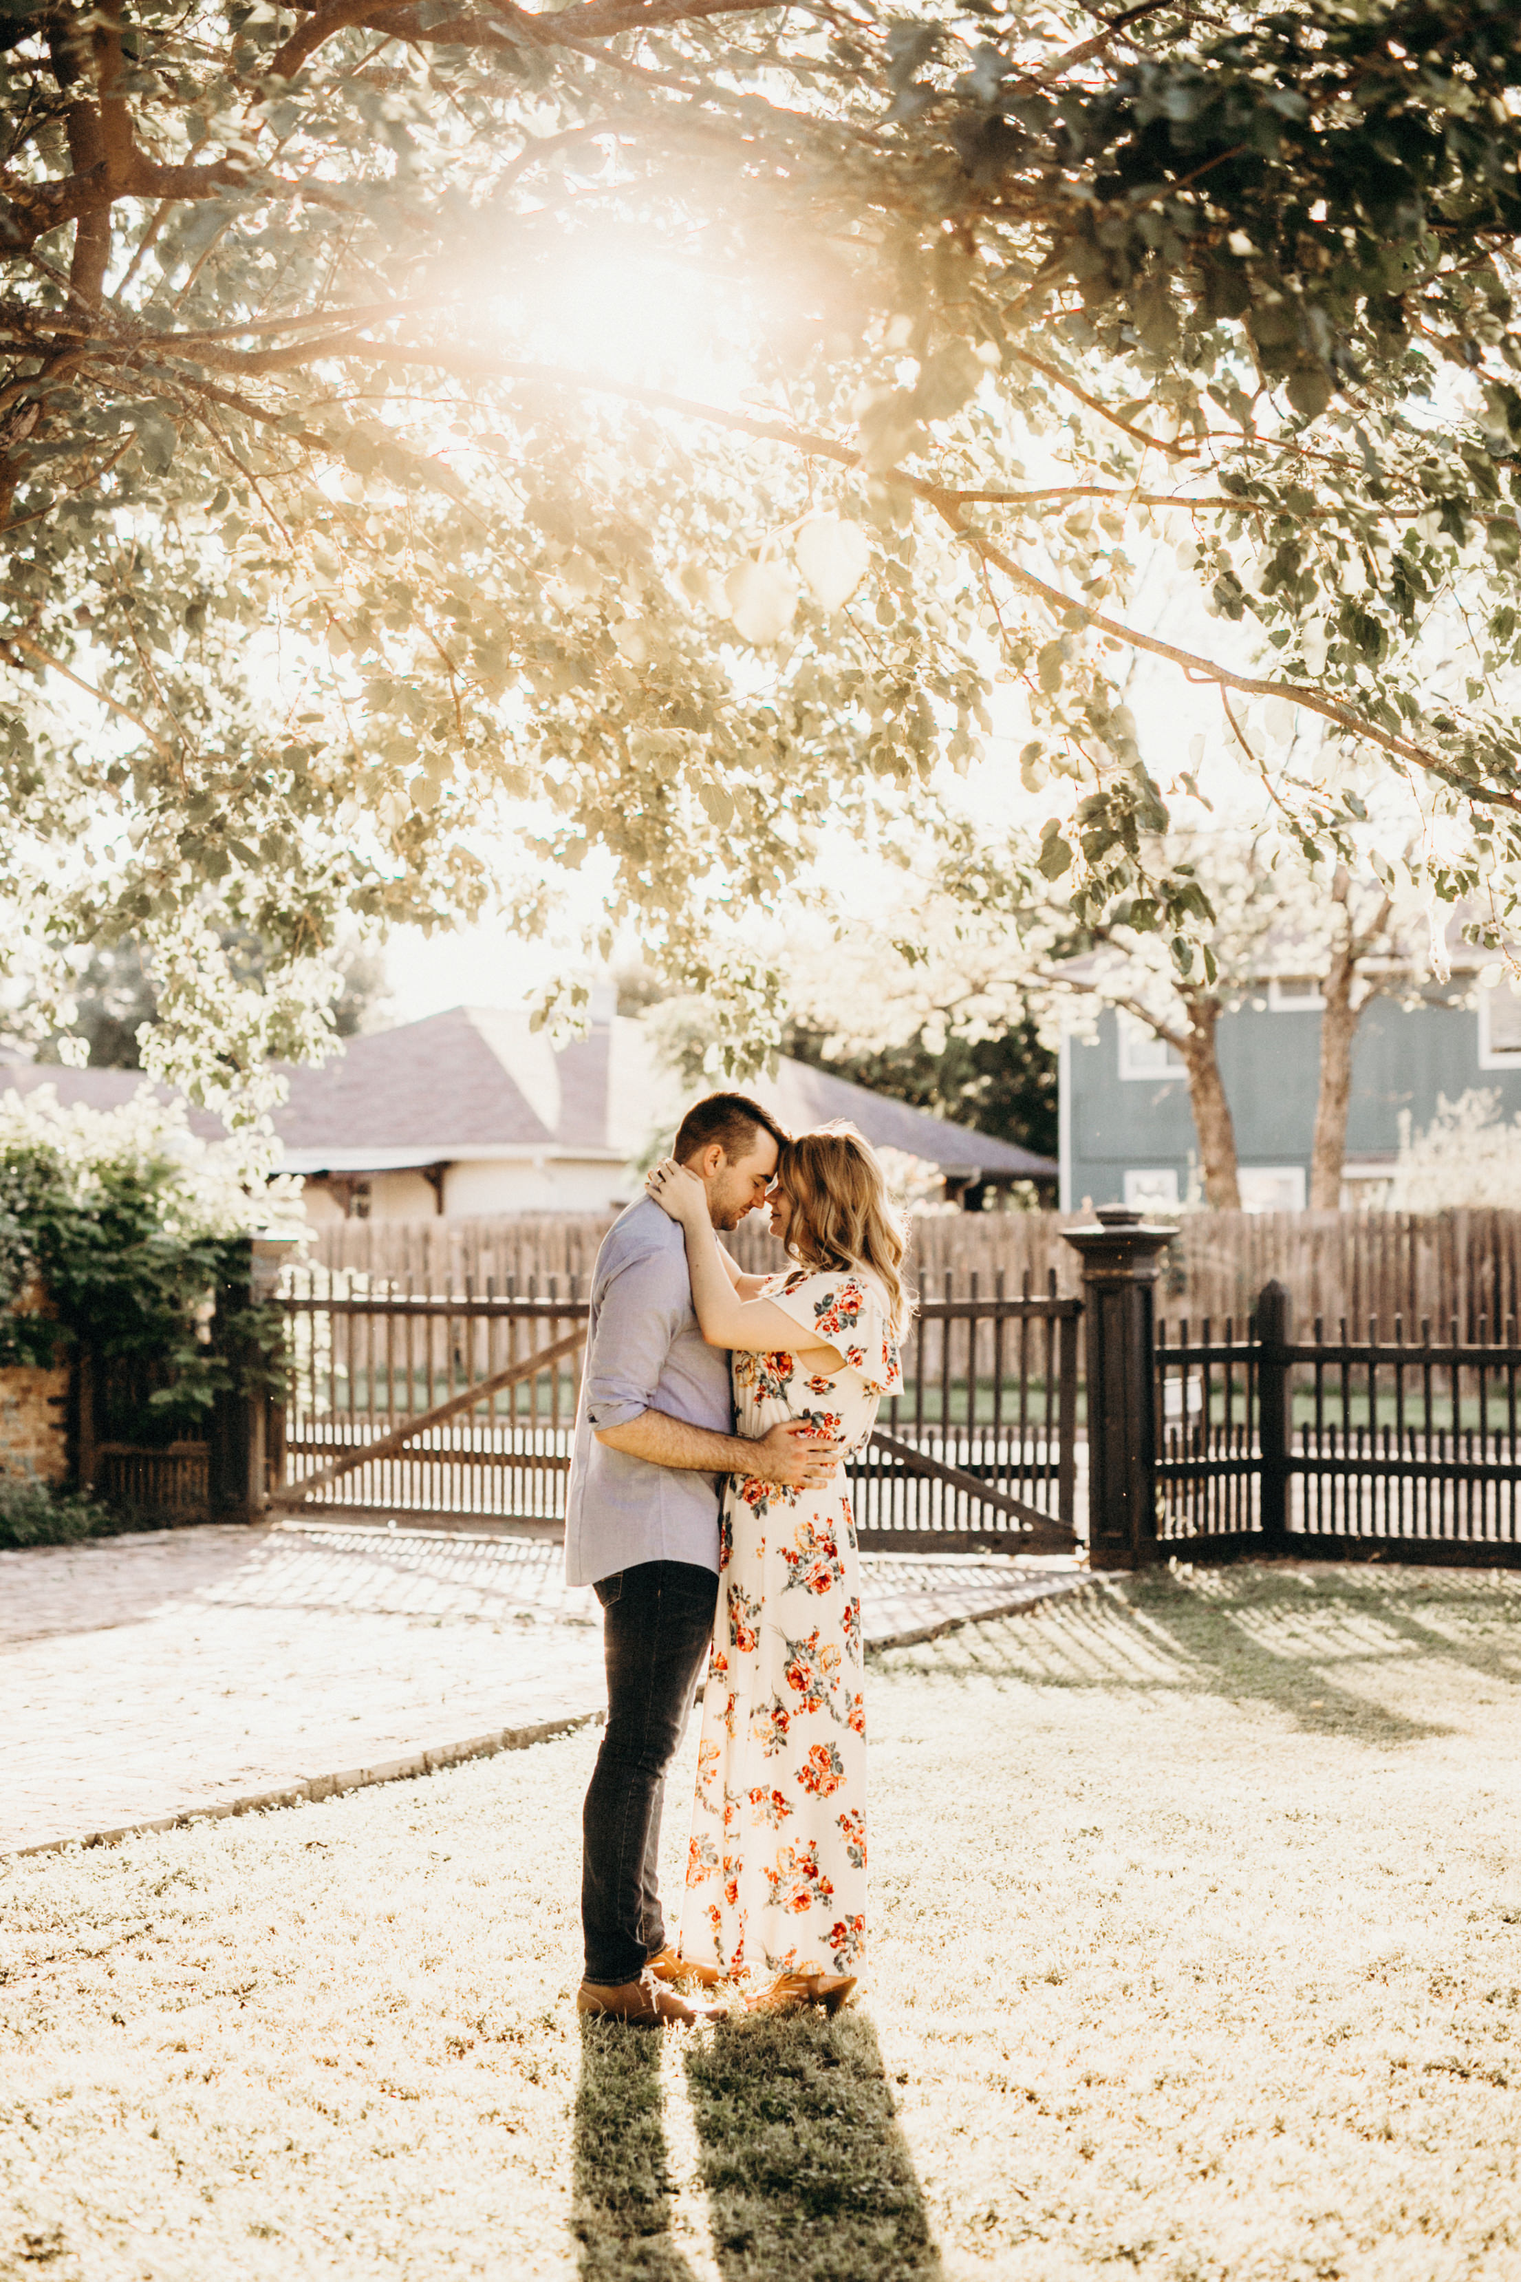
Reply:
[[[1010, 1294], [1079, 1289], [1079, 1262], [1060, 1241], [1076, 1212], [958, 1212], [914, 1221], [912, 1276], [926, 1298], [960, 1292], [978, 1278]], [[1489, 1324], [1521, 1317], [1521, 1212], [1186, 1212], [1168, 1251], [1158, 1312], [1227, 1314], [1245, 1321], [1268, 1282], [1288, 1292], [1300, 1321], [1323, 1317], [1391, 1324], [1457, 1319], [1466, 1340]], [[611, 1214], [518, 1214], [495, 1221], [340, 1221], [317, 1232], [315, 1267], [376, 1276], [415, 1294], [584, 1292]], [[734, 1239], [750, 1273], [782, 1267], [764, 1221], [750, 1216]], [[1028, 1278], [1028, 1285], [1026, 1285]]]

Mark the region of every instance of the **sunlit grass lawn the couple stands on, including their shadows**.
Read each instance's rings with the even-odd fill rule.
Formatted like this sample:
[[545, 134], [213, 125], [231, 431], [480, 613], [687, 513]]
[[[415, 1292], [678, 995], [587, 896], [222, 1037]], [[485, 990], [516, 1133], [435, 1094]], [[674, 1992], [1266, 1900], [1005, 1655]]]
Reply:
[[869, 1709], [832, 2024], [581, 2036], [591, 1734], [0, 1864], [0, 2275], [1521, 2277], [1521, 1577], [1158, 1575]]

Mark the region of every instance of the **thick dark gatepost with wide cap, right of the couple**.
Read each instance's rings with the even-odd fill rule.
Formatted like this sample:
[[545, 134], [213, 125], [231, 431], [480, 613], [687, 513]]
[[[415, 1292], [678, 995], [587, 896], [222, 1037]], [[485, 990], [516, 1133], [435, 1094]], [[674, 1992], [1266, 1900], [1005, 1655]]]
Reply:
[[1156, 1561], [1156, 1273], [1177, 1228], [1142, 1228], [1101, 1205], [1097, 1228], [1065, 1228], [1083, 1255], [1088, 1349], [1088, 1563]]

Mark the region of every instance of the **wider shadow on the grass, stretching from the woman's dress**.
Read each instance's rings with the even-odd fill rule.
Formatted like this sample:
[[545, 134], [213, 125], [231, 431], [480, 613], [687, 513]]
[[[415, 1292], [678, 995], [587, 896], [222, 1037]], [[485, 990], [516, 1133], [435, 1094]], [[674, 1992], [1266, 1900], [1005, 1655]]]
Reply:
[[864, 2015], [732, 2015], [693, 2042], [686, 2083], [725, 2282], [940, 2275]]

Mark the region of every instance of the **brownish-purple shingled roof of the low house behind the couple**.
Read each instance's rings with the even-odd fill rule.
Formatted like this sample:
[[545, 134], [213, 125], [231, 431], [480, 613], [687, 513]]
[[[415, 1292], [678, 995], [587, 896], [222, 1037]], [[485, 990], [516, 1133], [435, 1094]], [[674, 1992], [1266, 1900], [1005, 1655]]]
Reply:
[[[524, 1015], [477, 1006], [349, 1038], [319, 1068], [287, 1066], [285, 1077], [290, 1098], [274, 1123], [292, 1173], [385, 1173], [524, 1157], [623, 1166], [654, 1136], [673, 1132], [691, 1100], [691, 1089], [661, 1066], [643, 1022], [600, 1022], [556, 1052]], [[59, 1102], [91, 1109], [116, 1109], [141, 1084], [137, 1070], [0, 1066], [0, 1089], [57, 1086]], [[782, 1059], [775, 1077], [746, 1091], [789, 1132], [851, 1118], [878, 1148], [921, 1157], [958, 1180], [1056, 1178], [1051, 1157], [933, 1118], [803, 1061]], [[208, 1139], [221, 1132], [198, 1109], [189, 1123]]]

